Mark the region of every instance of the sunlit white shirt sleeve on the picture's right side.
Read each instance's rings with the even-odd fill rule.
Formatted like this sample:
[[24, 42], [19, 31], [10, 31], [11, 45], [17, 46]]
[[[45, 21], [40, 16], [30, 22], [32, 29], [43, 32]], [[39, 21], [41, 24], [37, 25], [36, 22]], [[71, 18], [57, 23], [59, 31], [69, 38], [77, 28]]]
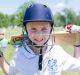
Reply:
[[64, 52], [63, 54], [63, 58], [66, 58], [64, 61], [63, 70], [80, 71], [80, 60], [74, 58], [66, 52]]

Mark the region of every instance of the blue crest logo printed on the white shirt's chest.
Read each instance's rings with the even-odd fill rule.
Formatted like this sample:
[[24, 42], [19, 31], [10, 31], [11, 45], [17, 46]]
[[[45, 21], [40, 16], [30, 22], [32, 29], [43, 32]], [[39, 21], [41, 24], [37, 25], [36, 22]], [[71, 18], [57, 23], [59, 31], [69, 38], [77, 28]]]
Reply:
[[49, 59], [48, 60], [48, 70], [50, 73], [56, 73], [58, 70], [57, 60], [56, 59]]

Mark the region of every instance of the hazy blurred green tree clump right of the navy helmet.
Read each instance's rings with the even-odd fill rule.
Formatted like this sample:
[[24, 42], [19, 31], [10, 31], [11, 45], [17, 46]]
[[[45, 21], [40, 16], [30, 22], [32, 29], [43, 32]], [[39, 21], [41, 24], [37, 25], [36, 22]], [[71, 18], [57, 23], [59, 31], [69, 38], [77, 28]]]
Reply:
[[63, 13], [58, 12], [54, 15], [55, 26], [80, 25], [80, 14], [77, 15], [73, 10], [66, 8], [63, 10]]

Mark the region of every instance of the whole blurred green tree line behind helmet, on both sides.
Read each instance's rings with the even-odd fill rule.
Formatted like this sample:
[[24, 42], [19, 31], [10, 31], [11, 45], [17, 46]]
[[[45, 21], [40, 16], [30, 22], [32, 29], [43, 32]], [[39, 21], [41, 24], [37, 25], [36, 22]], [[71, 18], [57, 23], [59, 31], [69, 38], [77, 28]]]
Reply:
[[[21, 26], [25, 10], [33, 3], [35, 2], [29, 1], [24, 3], [12, 15], [0, 13], [0, 28]], [[64, 8], [62, 13], [57, 12], [54, 14], [54, 23], [56, 27], [65, 27], [67, 24], [80, 25], [80, 12], [76, 14], [74, 10]]]

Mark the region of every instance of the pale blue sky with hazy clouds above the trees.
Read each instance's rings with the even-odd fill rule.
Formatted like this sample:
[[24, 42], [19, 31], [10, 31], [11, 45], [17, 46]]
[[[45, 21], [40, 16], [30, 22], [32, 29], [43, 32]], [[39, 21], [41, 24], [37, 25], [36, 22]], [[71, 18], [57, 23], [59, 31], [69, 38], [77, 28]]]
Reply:
[[[30, 0], [0, 0], [0, 12], [4, 14], [13, 14], [23, 5], [24, 2]], [[45, 4], [51, 8], [53, 14], [62, 11], [63, 8], [69, 8], [76, 13], [80, 11], [80, 0], [35, 0], [36, 3]]]

